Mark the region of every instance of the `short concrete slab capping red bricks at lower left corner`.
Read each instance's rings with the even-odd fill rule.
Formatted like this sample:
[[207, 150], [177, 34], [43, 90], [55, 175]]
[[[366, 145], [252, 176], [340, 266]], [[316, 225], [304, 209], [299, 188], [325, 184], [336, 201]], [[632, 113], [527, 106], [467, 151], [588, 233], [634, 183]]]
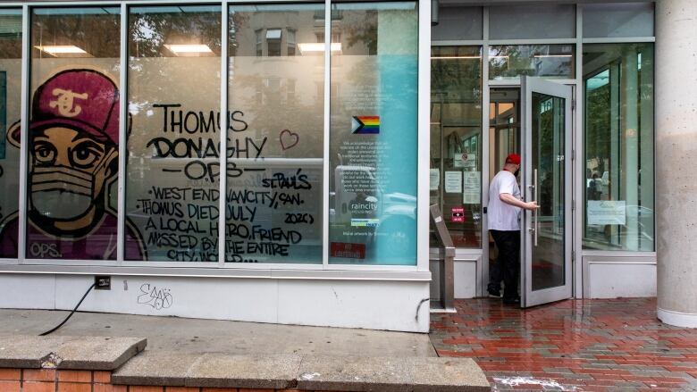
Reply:
[[0, 337], [0, 367], [113, 371], [143, 351], [144, 338]]

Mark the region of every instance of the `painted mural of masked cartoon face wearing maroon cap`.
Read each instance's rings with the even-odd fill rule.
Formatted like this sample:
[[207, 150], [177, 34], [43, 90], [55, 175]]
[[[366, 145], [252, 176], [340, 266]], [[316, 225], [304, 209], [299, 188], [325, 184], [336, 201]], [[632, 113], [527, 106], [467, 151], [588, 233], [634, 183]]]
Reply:
[[[20, 146], [18, 124], [8, 139]], [[29, 122], [27, 257], [115, 258], [117, 219], [107, 199], [118, 175], [118, 143], [119, 90], [104, 74], [61, 71], [37, 89]], [[130, 225], [126, 232], [140, 238]], [[16, 244], [7, 237], [0, 234], [3, 254]], [[129, 242], [128, 257], [142, 260], [142, 241]]]

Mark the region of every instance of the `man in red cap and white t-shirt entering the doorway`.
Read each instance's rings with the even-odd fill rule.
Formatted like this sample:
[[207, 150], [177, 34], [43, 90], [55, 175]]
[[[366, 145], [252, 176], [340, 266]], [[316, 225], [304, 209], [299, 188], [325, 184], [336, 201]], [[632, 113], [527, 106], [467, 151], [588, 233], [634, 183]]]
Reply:
[[521, 209], [538, 208], [537, 202], [520, 200], [520, 188], [516, 177], [520, 171], [520, 155], [508, 154], [503, 170], [491, 180], [489, 186], [489, 232], [499, 248], [499, 258], [490, 271], [488, 290], [491, 296], [500, 295], [503, 278], [504, 304], [520, 303], [518, 296], [518, 273], [520, 271], [520, 222]]

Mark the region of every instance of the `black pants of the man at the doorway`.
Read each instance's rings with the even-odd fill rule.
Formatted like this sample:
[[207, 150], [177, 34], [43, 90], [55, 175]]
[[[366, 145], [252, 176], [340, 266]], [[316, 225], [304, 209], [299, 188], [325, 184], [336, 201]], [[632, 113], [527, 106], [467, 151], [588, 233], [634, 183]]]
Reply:
[[505, 285], [504, 298], [518, 296], [520, 276], [520, 231], [489, 230], [499, 248], [499, 258], [489, 271], [489, 288], [500, 289], [501, 279]]

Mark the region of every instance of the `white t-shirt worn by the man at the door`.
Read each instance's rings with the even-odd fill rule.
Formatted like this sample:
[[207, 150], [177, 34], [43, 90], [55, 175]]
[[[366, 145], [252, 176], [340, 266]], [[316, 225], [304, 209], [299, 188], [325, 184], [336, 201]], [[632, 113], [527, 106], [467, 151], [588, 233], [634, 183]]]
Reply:
[[489, 186], [489, 206], [487, 215], [490, 230], [519, 230], [518, 213], [520, 208], [503, 203], [500, 199], [502, 193], [508, 193], [520, 200], [520, 188], [516, 176], [510, 171], [499, 171]]

